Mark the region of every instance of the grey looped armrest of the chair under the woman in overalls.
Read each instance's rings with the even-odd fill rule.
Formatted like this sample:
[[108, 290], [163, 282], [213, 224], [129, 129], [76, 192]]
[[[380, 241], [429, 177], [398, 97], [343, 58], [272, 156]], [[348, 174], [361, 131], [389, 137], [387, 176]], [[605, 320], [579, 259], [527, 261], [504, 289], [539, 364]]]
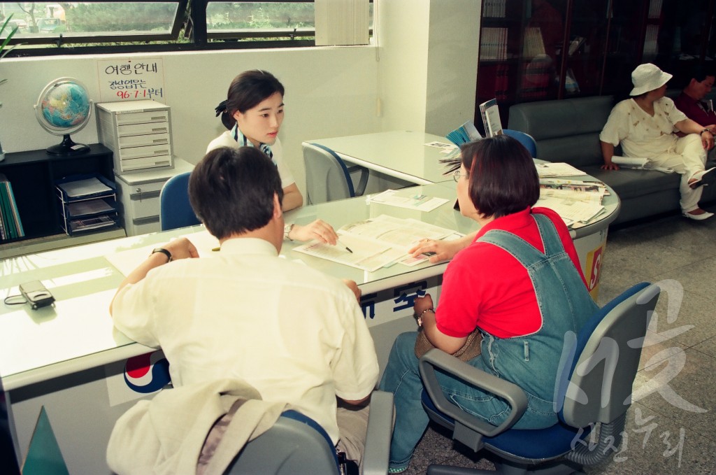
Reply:
[[[448, 353], [438, 350], [437, 348], [433, 348], [425, 353], [425, 355], [420, 358], [419, 365], [420, 376], [425, 385], [425, 390], [427, 394], [430, 395], [430, 399], [432, 403], [435, 404], [435, 407], [442, 413], [455, 419], [455, 421], [459, 421], [463, 426], [481, 433], [485, 437], [494, 437], [506, 431], [508, 428], [511, 428], [527, 409], [527, 395], [518, 385], [485, 373], [483, 370], [478, 370], [478, 368], [470, 366], [468, 363], [460, 361], [458, 358], [448, 355]], [[435, 377], [435, 368], [439, 368], [445, 373], [463, 380], [465, 383], [507, 400], [511, 407], [507, 419], [495, 427], [480, 418], [466, 413], [460, 406], [456, 406], [448, 401], [448, 398], [445, 398], [445, 395], [442, 394], [440, 383], [437, 382], [437, 378]]]

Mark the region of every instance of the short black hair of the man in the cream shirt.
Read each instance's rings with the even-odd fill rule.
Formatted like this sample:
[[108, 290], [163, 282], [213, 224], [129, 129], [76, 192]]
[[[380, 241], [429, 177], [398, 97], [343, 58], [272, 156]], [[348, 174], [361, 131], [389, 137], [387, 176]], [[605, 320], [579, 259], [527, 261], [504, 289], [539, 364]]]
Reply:
[[274, 195], [283, 201], [279, 171], [258, 148], [211, 150], [189, 177], [191, 207], [218, 239], [269, 224]]

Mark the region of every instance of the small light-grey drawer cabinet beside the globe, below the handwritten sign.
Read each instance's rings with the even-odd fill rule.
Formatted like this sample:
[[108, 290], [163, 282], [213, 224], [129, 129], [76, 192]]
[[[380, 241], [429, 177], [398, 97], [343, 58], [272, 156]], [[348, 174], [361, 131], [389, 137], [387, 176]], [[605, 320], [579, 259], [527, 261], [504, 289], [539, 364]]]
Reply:
[[171, 116], [155, 100], [97, 104], [100, 142], [115, 153], [115, 171], [173, 167]]

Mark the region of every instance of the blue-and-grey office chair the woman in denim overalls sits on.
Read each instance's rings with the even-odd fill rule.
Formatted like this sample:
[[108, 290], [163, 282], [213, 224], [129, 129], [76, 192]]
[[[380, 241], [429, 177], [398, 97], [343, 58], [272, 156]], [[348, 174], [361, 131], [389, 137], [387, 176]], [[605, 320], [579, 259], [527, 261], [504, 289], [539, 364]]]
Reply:
[[[559, 421], [549, 428], [511, 428], [527, 407], [517, 385], [437, 349], [423, 355], [422, 404], [430, 419], [474, 451], [485, 449], [499, 459], [495, 471], [432, 465], [427, 474], [572, 474], [606, 460], [621, 443], [644, 335], [658, 297], [656, 285], [637, 284], [596, 312], [579, 334], [565, 335], [555, 386]], [[495, 427], [448, 402], [435, 378], [436, 368], [507, 400], [507, 420]], [[586, 438], [596, 423], [599, 441], [590, 447]]]

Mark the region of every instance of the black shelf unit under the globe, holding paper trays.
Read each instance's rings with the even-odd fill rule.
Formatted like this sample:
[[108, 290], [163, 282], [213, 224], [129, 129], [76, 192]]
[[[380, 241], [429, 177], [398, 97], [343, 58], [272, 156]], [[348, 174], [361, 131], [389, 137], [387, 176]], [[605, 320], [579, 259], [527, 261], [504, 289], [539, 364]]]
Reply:
[[0, 173], [12, 183], [25, 236], [1, 240], [0, 245], [64, 233], [55, 183], [84, 173], [97, 173], [114, 183], [112, 168], [112, 150], [98, 143], [82, 155], [49, 155], [44, 149], [6, 153]]

